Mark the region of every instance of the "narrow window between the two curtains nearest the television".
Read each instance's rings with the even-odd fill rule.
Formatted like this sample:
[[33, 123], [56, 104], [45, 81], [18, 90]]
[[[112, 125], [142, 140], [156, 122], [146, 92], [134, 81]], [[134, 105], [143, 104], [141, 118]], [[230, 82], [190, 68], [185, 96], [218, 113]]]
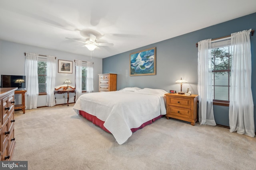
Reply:
[[38, 89], [39, 93], [46, 93], [46, 61], [38, 61]]

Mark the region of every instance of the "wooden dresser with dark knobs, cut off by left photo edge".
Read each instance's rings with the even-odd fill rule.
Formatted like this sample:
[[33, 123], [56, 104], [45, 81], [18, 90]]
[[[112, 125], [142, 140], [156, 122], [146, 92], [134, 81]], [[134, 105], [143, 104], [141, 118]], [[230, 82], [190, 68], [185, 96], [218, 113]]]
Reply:
[[12, 160], [16, 145], [14, 138], [14, 91], [17, 88], [0, 88], [0, 160]]

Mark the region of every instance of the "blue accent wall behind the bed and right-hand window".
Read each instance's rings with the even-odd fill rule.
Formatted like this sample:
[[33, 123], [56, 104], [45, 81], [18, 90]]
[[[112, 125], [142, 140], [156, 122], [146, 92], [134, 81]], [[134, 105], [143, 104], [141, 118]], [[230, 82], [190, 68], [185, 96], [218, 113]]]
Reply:
[[[182, 91], [190, 88], [192, 94], [198, 94], [198, 49], [196, 43], [204, 39], [224, 37], [250, 28], [256, 30], [256, 13], [107, 57], [102, 61], [102, 72], [118, 74], [117, 90], [137, 86], [140, 88], [159, 88], [167, 92], [169, 90], [180, 91], [180, 84], [175, 84], [175, 81], [182, 77], [188, 81], [188, 84], [182, 85]], [[252, 96], [254, 100], [254, 124], [256, 124], [256, 33], [254, 34], [251, 36], [251, 52]], [[156, 47], [156, 75], [130, 76], [130, 53], [152, 47]], [[217, 124], [229, 126], [228, 107], [214, 106], [214, 118]]]

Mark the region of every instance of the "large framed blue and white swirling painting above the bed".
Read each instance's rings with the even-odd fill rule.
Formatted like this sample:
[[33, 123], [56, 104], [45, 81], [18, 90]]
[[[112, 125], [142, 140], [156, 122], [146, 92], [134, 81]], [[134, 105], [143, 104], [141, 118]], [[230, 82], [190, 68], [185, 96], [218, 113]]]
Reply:
[[130, 76], [156, 75], [156, 47], [130, 54]]

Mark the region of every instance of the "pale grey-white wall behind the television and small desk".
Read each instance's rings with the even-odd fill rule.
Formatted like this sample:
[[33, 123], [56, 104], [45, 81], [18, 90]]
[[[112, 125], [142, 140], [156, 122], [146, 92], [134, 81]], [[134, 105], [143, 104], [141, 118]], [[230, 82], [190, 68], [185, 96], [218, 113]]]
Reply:
[[[56, 86], [62, 85], [66, 79], [70, 79], [72, 82], [70, 85], [75, 86], [75, 59], [93, 62], [94, 92], [98, 92], [98, 74], [102, 74], [102, 59], [96, 57], [92, 57], [92, 59], [90, 59], [90, 56], [76, 55], [63, 51], [12, 43], [4, 40], [0, 40], [0, 74], [25, 75], [25, 52], [38, 53], [40, 55], [53, 55], [56, 57]], [[73, 62], [72, 74], [58, 73], [58, 59]], [[19, 99], [20, 96], [21, 95], [15, 96], [17, 98], [16, 104], [21, 103], [21, 100]], [[74, 94], [70, 94], [69, 102], [74, 102]], [[66, 96], [63, 98], [63, 94], [56, 94], [56, 104], [64, 103], [66, 103]], [[38, 96], [37, 106], [45, 106], [45, 104], [46, 96]]]

